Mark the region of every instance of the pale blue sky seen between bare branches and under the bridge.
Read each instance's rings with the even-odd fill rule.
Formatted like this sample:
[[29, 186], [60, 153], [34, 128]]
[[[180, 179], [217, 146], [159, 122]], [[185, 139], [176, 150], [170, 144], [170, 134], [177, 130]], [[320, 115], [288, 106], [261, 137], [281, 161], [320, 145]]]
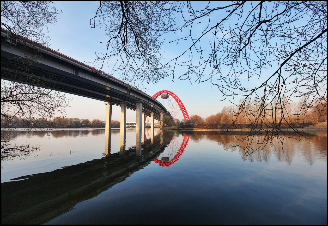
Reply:
[[[276, 5], [277, 2], [271, 2], [267, 3], [267, 7], [270, 9]], [[67, 56], [70, 56], [78, 61], [84, 62], [90, 66], [94, 66], [95, 68], [105, 71], [106, 73], [111, 74], [112, 72], [112, 67], [104, 65], [104, 67], [101, 68], [101, 65], [94, 65], [92, 62], [96, 58], [95, 52], [96, 53], [105, 53], [106, 52], [106, 44], [100, 43], [100, 42], [107, 42], [110, 38], [110, 36], [106, 36], [106, 31], [105, 31], [105, 26], [96, 26], [92, 28], [92, 25], [90, 23], [90, 19], [94, 17], [95, 11], [99, 7], [99, 2], [98, 1], [56, 1], [53, 3], [54, 6], [57, 8], [57, 10], [62, 11], [62, 13], [59, 15], [59, 19], [55, 24], [50, 24], [48, 25], [48, 36], [51, 38], [49, 42], [49, 46], [53, 50], [58, 50], [58, 52], [65, 54]], [[205, 7], [204, 2], [201, 1], [193, 1], [192, 6], [194, 10], [200, 10]], [[225, 6], [226, 2], [224, 1], [214, 1], [210, 3], [211, 5], [208, 8], [217, 8], [221, 6]], [[234, 59], [229, 54], [226, 54], [226, 52], [229, 52], [229, 49], [232, 48], [234, 49], [235, 45], [230, 45], [230, 41], [233, 40], [229, 39], [230, 37], [230, 32], [232, 32], [236, 29], [234, 26], [238, 26], [238, 21], [243, 21], [245, 18], [248, 18], [246, 20], [252, 20], [252, 18], [257, 18], [256, 13], [253, 10], [251, 10], [254, 6], [254, 4], [258, 4], [256, 2], [249, 1], [245, 4], [243, 7], [243, 11], [247, 11], [248, 9], [250, 10], [249, 12], [254, 13], [254, 15], [248, 17], [247, 13], [241, 13], [240, 15], [243, 15], [243, 18], [238, 18], [236, 15], [232, 15], [229, 20], [224, 23], [224, 27], [218, 28], [219, 33], [217, 33], [217, 36], [215, 36], [217, 39], [215, 40], [220, 40], [220, 37], [223, 37], [222, 32], [224, 33], [224, 41], [222, 41], [221, 49], [218, 49], [218, 52], [215, 53], [215, 56], [211, 56], [210, 60], [221, 60], [217, 65], [220, 67], [220, 73], [222, 73], [223, 77], [227, 76], [229, 80], [232, 79], [233, 81], [233, 76], [234, 73], [236, 73], [236, 76], [239, 76], [238, 82], [240, 83], [240, 86], [245, 88], [245, 89], [240, 89], [240, 88], [233, 88], [230, 86], [229, 91], [230, 94], [233, 92], [239, 93], [239, 94], [247, 94], [248, 90], [254, 89], [256, 87], [259, 87], [265, 79], [269, 78], [268, 84], [276, 84], [277, 81], [277, 74], [275, 74], [275, 71], [279, 67], [281, 61], [283, 61], [286, 56], [284, 53], [284, 48], [289, 48], [289, 41], [288, 41], [288, 36], [287, 36], [287, 41], [286, 36], [279, 36], [275, 33], [276, 27], [279, 30], [279, 23], [270, 25], [273, 26], [273, 33], [270, 35], [273, 37], [273, 39], [270, 39], [270, 44], [273, 45], [273, 48], [270, 48], [270, 51], [273, 50], [273, 52], [266, 52], [264, 53], [270, 53], [269, 56], [265, 56], [265, 60], [269, 60], [271, 65], [268, 65], [266, 63], [265, 65], [261, 65], [260, 67], [257, 68], [257, 64], [261, 62], [263, 59], [263, 55], [260, 53], [263, 51], [262, 46], [263, 42], [261, 41], [261, 37], [267, 37], [267, 35], [263, 36], [262, 33], [259, 33], [261, 36], [252, 36], [255, 40], [252, 40], [252, 45], [248, 45], [243, 51], [243, 53], [240, 55], [241, 58], [238, 58], [236, 61], [231, 61]], [[279, 5], [279, 4], [278, 4]], [[279, 5], [279, 7], [284, 8], [284, 6]], [[270, 16], [270, 10], [267, 12], [268, 15]], [[226, 12], [228, 13], [228, 12]], [[188, 47], [190, 47], [193, 43], [193, 40], [191, 40], [190, 37], [188, 37], [189, 32], [190, 36], [195, 40], [195, 38], [199, 38], [202, 36], [202, 32], [206, 30], [206, 33], [204, 36], [201, 38], [201, 49], [204, 50], [201, 53], [201, 60], [200, 62], [208, 63], [209, 61], [206, 60], [208, 56], [210, 56], [210, 53], [212, 53], [212, 49], [217, 47], [217, 41], [216, 44], [214, 42], [214, 37], [213, 37], [213, 32], [216, 32], [214, 29], [208, 29], [208, 27], [216, 27], [218, 21], [223, 20], [227, 15], [225, 11], [219, 10], [216, 11], [215, 13], [211, 13], [211, 16], [208, 18], [202, 17], [199, 20], [203, 20], [203, 23], [199, 23], [200, 21], [195, 21], [195, 23], [192, 25], [192, 29], [189, 30], [190, 27], [184, 28], [182, 31], [177, 30], [174, 33], [166, 33], [163, 35], [163, 39], [165, 40], [165, 44], [162, 45], [161, 49], [159, 50], [162, 55], [164, 56], [165, 60], [162, 61], [163, 64], [167, 62], [171, 62], [175, 57], [178, 57], [181, 53], [184, 53], [186, 50], [188, 50]], [[311, 13], [311, 12], [309, 12]], [[256, 15], [255, 15], [256, 14]], [[190, 19], [188, 15], [185, 15], [187, 19]], [[263, 13], [262, 13], [263, 16]], [[265, 16], [265, 15], [264, 15]], [[296, 16], [296, 15], [287, 15], [288, 16]], [[182, 18], [181, 15], [175, 15], [176, 18], [176, 24], [177, 27], [181, 26]], [[302, 18], [302, 19], [301, 19]], [[206, 21], [207, 19], [210, 19], [210, 21]], [[305, 24], [305, 27], [310, 27], [312, 25], [312, 20], [310, 20], [310, 15], [305, 15], [305, 17], [298, 17], [299, 20], [297, 21], [292, 21], [289, 23], [293, 23], [293, 26], [296, 26], [296, 29], [304, 29], [302, 28], [303, 25]], [[317, 18], [318, 19], [318, 18]], [[287, 20], [288, 21], [288, 20]], [[321, 21], [321, 20], [320, 20]], [[250, 22], [250, 21], [249, 21]], [[237, 24], [235, 24], [237, 23]], [[323, 23], [323, 22], [322, 22]], [[96, 22], [97, 24], [97, 22]], [[222, 24], [221, 24], [222, 25]], [[223, 25], [222, 25], [223, 26]], [[220, 30], [222, 28], [222, 30]], [[285, 29], [284, 27], [281, 27], [282, 29]], [[287, 29], [288, 30], [288, 29]], [[292, 31], [294, 31], [292, 29]], [[291, 31], [291, 32], [292, 32]], [[280, 30], [281, 34], [285, 34], [284, 30]], [[292, 32], [292, 34], [294, 34]], [[298, 33], [295, 33], [298, 34]], [[302, 34], [304, 35], [304, 34]], [[307, 35], [307, 34], [305, 34]], [[316, 34], [315, 34], [316, 35]], [[270, 37], [271, 37], [270, 36]], [[291, 35], [294, 37], [293, 35]], [[187, 40], [180, 40], [179, 43], [169, 43], [170, 41], [176, 40], [178, 38], [182, 37], [188, 37]], [[235, 36], [232, 36], [235, 37]], [[236, 37], [235, 37], [236, 38]], [[247, 38], [247, 36], [245, 36]], [[239, 42], [247, 41], [245, 38], [239, 37]], [[258, 41], [257, 41], [257, 38]], [[297, 37], [296, 37], [297, 38]], [[308, 38], [299, 39], [295, 45], [302, 46]], [[309, 39], [311, 37], [309, 36]], [[312, 37], [313, 38], [313, 37]], [[292, 38], [292, 41], [296, 41], [295, 38]], [[229, 41], [230, 40], [230, 41]], [[235, 40], [236, 41], [236, 40]], [[228, 43], [228, 44], [227, 44]], [[226, 44], [228, 46], [226, 46]], [[279, 45], [280, 44], [280, 45]], [[276, 46], [277, 45], [277, 46]], [[199, 42], [197, 41], [195, 46], [199, 48]], [[193, 46], [192, 50], [192, 56], [193, 56], [193, 65], [195, 65], [195, 61], [199, 59], [200, 53], [195, 50], [195, 46]], [[215, 46], [215, 47], [214, 47]], [[275, 47], [276, 46], [276, 47]], [[286, 47], [287, 46], [287, 47]], [[265, 47], [265, 45], [264, 45]], [[294, 46], [295, 47], [295, 46]], [[265, 47], [266, 48], [266, 47]], [[264, 48], [264, 49], [265, 49]], [[256, 50], [257, 49], [257, 50]], [[323, 48], [324, 49], [324, 48]], [[223, 53], [221, 50], [224, 50]], [[228, 50], [228, 51], [226, 51]], [[286, 50], [286, 49], [285, 49]], [[320, 50], [318, 50], [320, 51]], [[220, 55], [222, 53], [222, 55]], [[260, 53], [260, 54], [259, 54]], [[258, 54], [260, 56], [258, 56]], [[281, 55], [282, 54], [282, 55]], [[288, 54], [288, 53], [286, 53]], [[198, 55], [198, 56], [197, 56]], [[243, 58], [247, 56], [246, 58]], [[303, 56], [303, 55], [301, 55]], [[260, 57], [260, 58], [258, 58]], [[324, 53], [320, 57], [325, 57]], [[257, 59], [256, 59], [257, 58]], [[323, 59], [323, 58], [322, 58]], [[189, 51], [186, 51], [186, 54], [183, 56], [179, 57], [177, 64], [183, 62], [183, 61], [188, 61], [189, 60]], [[297, 59], [296, 59], [297, 60]], [[302, 58], [300, 58], [302, 60]], [[310, 60], [315, 60], [315, 58], [311, 58]], [[109, 61], [107, 61], [109, 62]], [[233, 66], [227, 66], [229, 63], [233, 62]], [[109, 64], [114, 64], [115, 60], [110, 62]], [[305, 64], [307, 62], [304, 62]], [[210, 74], [212, 71], [211, 69], [211, 64], [207, 64], [205, 67], [205, 72], [203, 74]], [[202, 69], [203, 66], [199, 67], [199, 70]], [[234, 68], [232, 70], [232, 67]], [[307, 87], [307, 85], [311, 86], [311, 81], [308, 80], [302, 80], [302, 73], [296, 73], [293, 74], [293, 70], [290, 70], [288, 68], [288, 65], [285, 65], [282, 69], [286, 72], [283, 72], [283, 76], [285, 78], [285, 85], [284, 90], [280, 90], [280, 94], [283, 93], [284, 96], [288, 96], [289, 94], [292, 94], [295, 89], [292, 89], [294, 86], [294, 80], [298, 81], [301, 79], [301, 83], [298, 84], [298, 89], [301, 91], [304, 91]], [[188, 67], [187, 67], [188, 68]], [[216, 114], [222, 110], [224, 106], [229, 106], [237, 104], [239, 102], [240, 96], [236, 96], [235, 100], [232, 98], [226, 98], [225, 99], [223, 94], [220, 92], [220, 90], [215, 86], [211, 85], [211, 82], [205, 81], [202, 82], [198, 85], [198, 82], [195, 81], [196, 76], [195, 73], [192, 75], [194, 77], [191, 78], [191, 81], [189, 80], [179, 80], [178, 77], [181, 76], [183, 73], [185, 73], [188, 69], [186, 67], [181, 67], [177, 66], [175, 67], [174, 71], [174, 81], [173, 81], [173, 76], [168, 76], [166, 79], [162, 79], [156, 84], [147, 84], [144, 82], [142, 85], [145, 89], [143, 89], [144, 92], [148, 93], [149, 95], [153, 95], [154, 93], [160, 91], [160, 90], [170, 90], [174, 92], [184, 103], [189, 115], [200, 115], [203, 118], [206, 118], [212, 114]], [[240, 69], [242, 68], [242, 69]], [[302, 67], [301, 67], [302, 68]], [[217, 70], [214, 70], [215, 73], [217, 73]], [[240, 73], [239, 73], [239, 72]], [[248, 80], [248, 74], [255, 73], [253, 77]], [[120, 72], [114, 73], [113, 76], [116, 78], [120, 79]], [[263, 78], [259, 77], [256, 74], [260, 74], [263, 76]], [[271, 76], [274, 75], [274, 76]], [[209, 76], [209, 75], [207, 75]], [[214, 77], [212, 78], [213, 83], [220, 84], [220, 81], [217, 81], [216, 78], [219, 78], [218, 74], [214, 74]], [[322, 76], [324, 77], [324, 76]], [[203, 77], [202, 77], [203, 78]], [[205, 76], [205, 79], [208, 78]], [[286, 80], [287, 79], [287, 80]], [[309, 84], [308, 84], [309, 83]], [[133, 84], [132, 84], [133, 85]], [[224, 82], [223, 82], [224, 86]], [[305, 88], [304, 88], [304, 87]], [[324, 91], [324, 86], [326, 86], [326, 83], [324, 82], [321, 84], [320, 83], [321, 89]], [[253, 93], [251, 96], [251, 99], [254, 100], [254, 97], [256, 96], [261, 96], [264, 93], [264, 87], [261, 87], [256, 91], [256, 93]], [[271, 92], [272, 91], [272, 92]], [[286, 93], [284, 93], [287, 91]], [[306, 90], [305, 90], [306, 91]], [[268, 98], [273, 98], [276, 94], [277, 90], [270, 90], [269, 96], [265, 97], [267, 99], [266, 101], [270, 101]], [[105, 103], [97, 100], [92, 100], [89, 98], [85, 97], [80, 97], [80, 96], [75, 96], [72, 94], [66, 94], [68, 98], [72, 99], [70, 102], [70, 106], [66, 107], [66, 117], [68, 118], [80, 118], [80, 119], [100, 119], [100, 120], [105, 120], [105, 109], [106, 106], [104, 105]], [[297, 101], [297, 95], [299, 95], [297, 92], [294, 92], [291, 98], [293, 100], [291, 101]], [[321, 94], [320, 94], [321, 95]], [[231, 102], [232, 103], [231, 103]], [[114, 120], [119, 120], [120, 119], [120, 107], [119, 106], [113, 106], [113, 113], [112, 117]], [[135, 112], [132, 110], [127, 111], [127, 121], [135, 121]], [[183, 116], [182, 113], [179, 113], [177, 115], [178, 119], [182, 120]]]

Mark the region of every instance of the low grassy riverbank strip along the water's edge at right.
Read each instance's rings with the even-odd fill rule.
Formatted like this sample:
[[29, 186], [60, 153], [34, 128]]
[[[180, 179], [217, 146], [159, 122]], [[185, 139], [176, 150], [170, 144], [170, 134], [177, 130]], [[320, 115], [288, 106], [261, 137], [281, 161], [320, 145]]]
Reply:
[[[327, 130], [327, 122], [320, 123], [293, 123], [297, 129], [302, 130]], [[271, 124], [258, 124], [257, 129], [268, 130]], [[252, 124], [195, 124], [195, 125], [182, 125], [171, 126], [162, 129], [178, 129], [178, 130], [252, 130], [255, 126]], [[293, 130], [287, 123], [280, 124], [280, 130]]]

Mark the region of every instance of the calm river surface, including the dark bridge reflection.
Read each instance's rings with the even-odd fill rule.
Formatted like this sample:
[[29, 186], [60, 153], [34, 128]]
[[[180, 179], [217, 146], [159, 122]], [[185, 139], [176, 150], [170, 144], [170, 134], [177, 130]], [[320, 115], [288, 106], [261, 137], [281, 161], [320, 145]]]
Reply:
[[[327, 132], [246, 155], [239, 132], [15, 131], [2, 224], [327, 224]], [[139, 137], [143, 142], [139, 144]]]

